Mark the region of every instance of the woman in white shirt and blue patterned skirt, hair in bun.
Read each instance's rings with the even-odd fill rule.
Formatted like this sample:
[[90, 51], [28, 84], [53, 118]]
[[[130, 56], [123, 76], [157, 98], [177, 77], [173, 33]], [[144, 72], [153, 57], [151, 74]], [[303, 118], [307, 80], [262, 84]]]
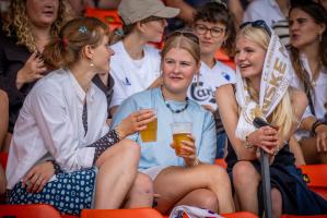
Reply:
[[109, 130], [106, 96], [92, 82], [109, 71], [106, 24], [72, 20], [44, 55], [59, 70], [38, 81], [20, 112], [7, 167], [8, 202], [50, 204], [72, 215], [151, 206], [152, 182], [137, 171], [140, 147], [124, 138], [154, 114], [136, 111]]

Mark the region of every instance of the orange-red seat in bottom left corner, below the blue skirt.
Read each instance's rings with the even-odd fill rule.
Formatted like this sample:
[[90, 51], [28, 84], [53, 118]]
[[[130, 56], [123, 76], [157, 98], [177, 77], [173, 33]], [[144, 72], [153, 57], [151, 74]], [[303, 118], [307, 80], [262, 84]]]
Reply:
[[0, 205], [0, 217], [14, 218], [61, 218], [58, 210], [50, 205]]

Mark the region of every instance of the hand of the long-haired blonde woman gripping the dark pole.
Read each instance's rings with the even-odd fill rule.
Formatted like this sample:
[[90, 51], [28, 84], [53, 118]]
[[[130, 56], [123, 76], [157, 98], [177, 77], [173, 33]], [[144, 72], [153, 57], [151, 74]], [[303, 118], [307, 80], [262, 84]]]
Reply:
[[279, 146], [278, 130], [269, 125], [262, 126], [248, 135], [249, 144], [262, 148], [266, 153], [273, 155]]

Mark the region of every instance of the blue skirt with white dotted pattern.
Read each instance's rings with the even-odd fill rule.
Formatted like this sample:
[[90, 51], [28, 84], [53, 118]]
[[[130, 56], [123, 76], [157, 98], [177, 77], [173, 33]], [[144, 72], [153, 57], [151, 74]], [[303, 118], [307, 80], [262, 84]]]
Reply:
[[9, 204], [49, 204], [61, 214], [79, 215], [82, 209], [91, 208], [95, 189], [97, 169], [82, 169], [74, 172], [61, 172], [57, 179], [48, 182], [42, 192], [28, 193], [22, 182], [7, 192]]

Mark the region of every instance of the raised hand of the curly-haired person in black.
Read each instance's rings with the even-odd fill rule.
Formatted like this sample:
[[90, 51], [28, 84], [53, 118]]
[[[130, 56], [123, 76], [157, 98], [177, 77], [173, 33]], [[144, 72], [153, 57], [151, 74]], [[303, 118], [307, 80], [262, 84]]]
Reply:
[[32, 83], [38, 78], [42, 78], [47, 68], [38, 51], [34, 51], [27, 59], [24, 66], [19, 70], [16, 76], [16, 87], [20, 89], [25, 83]]

